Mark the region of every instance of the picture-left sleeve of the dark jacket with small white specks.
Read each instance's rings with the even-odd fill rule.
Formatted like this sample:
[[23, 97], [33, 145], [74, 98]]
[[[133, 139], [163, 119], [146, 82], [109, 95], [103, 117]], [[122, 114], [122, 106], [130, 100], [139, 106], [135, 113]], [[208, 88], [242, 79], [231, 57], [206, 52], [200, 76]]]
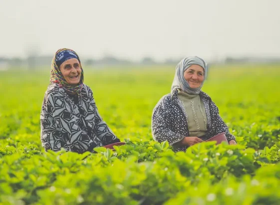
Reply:
[[152, 135], [155, 141], [167, 141], [171, 146], [185, 138], [185, 136], [172, 131], [171, 119], [168, 110], [164, 106], [164, 98], [158, 102], [153, 110]]

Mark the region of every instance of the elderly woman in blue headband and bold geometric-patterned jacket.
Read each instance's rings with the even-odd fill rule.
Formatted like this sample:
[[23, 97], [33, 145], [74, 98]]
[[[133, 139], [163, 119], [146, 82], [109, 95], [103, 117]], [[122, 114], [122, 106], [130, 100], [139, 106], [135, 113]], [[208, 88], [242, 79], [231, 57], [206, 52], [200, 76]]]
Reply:
[[59, 49], [52, 60], [50, 85], [44, 95], [41, 143], [45, 151], [84, 153], [120, 142], [98, 113], [77, 53]]

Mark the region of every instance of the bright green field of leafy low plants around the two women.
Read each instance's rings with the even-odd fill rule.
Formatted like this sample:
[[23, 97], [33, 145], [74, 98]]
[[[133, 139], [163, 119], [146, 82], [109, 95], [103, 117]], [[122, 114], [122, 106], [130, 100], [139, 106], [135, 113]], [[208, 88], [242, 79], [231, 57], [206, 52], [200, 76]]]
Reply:
[[127, 145], [45, 153], [39, 114], [49, 72], [0, 72], [0, 205], [279, 205], [280, 65], [211, 66], [203, 91], [237, 146], [173, 153], [151, 135], [175, 67], [84, 68], [98, 110]]

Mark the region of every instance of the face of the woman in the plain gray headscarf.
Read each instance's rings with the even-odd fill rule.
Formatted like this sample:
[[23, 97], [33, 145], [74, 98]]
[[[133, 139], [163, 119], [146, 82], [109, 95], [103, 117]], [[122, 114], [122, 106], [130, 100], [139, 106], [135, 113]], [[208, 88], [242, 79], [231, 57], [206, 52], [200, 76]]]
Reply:
[[184, 78], [191, 88], [199, 88], [204, 80], [204, 70], [200, 65], [193, 64], [184, 72]]

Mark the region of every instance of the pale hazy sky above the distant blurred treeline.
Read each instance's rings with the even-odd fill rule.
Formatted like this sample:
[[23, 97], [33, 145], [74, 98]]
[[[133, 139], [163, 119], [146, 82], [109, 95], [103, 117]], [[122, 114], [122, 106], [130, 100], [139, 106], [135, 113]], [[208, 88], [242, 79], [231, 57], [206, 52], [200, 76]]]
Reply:
[[280, 57], [280, 0], [0, 0], [0, 56]]

